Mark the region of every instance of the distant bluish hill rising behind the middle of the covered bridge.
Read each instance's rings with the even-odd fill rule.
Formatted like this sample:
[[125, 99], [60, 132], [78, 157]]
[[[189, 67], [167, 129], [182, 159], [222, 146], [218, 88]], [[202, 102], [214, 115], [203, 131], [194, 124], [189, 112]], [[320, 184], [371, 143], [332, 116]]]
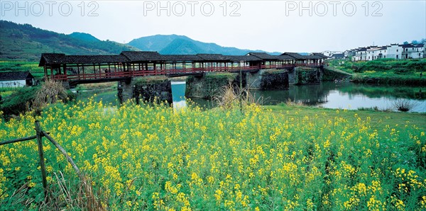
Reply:
[[[248, 52], [265, 52], [263, 50], [247, 50], [236, 47], [222, 47], [216, 43], [200, 42], [182, 35], [153, 35], [137, 38], [127, 43], [140, 50], [158, 51], [164, 55], [185, 55], [197, 53], [215, 53], [223, 55], [245, 55]], [[280, 52], [268, 52], [279, 55]]]

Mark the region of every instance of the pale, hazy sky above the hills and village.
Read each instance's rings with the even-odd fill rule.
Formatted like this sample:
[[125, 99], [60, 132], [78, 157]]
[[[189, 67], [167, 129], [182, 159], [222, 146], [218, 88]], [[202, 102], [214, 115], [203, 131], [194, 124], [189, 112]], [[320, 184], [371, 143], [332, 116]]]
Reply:
[[344, 51], [426, 38], [416, 1], [0, 1], [1, 20], [127, 43], [186, 35], [269, 52]]

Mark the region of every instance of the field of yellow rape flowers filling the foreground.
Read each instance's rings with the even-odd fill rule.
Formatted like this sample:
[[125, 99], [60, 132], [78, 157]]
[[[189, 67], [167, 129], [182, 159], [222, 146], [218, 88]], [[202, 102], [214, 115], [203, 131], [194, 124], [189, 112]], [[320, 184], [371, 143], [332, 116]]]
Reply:
[[107, 210], [426, 210], [425, 125], [377, 125], [359, 113], [50, 105], [1, 119], [0, 141], [35, 135], [40, 120], [89, 178], [92, 198], [43, 138], [50, 200], [37, 142], [6, 144], [0, 210], [90, 209], [79, 201]]

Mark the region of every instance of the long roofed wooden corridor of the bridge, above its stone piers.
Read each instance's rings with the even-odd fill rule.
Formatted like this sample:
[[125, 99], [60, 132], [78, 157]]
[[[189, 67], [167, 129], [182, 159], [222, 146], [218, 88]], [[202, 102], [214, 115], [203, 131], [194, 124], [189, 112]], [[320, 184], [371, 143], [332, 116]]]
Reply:
[[207, 72], [257, 72], [260, 69], [322, 67], [324, 55], [286, 52], [268, 55], [160, 55], [158, 52], [121, 52], [120, 55], [65, 55], [43, 53], [39, 67], [45, 76], [71, 85], [121, 81], [134, 76], [185, 76]]

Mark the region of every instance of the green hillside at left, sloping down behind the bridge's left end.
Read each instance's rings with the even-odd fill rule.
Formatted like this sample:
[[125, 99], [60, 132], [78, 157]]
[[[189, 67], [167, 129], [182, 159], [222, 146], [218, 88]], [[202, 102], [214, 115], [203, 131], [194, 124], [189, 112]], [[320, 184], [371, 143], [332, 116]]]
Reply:
[[119, 54], [135, 47], [102, 41], [87, 33], [65, 35], [35, 28], [30, 24], [0, 21], [0, 59], [37, 61], [42, 52], [68, 55]]

